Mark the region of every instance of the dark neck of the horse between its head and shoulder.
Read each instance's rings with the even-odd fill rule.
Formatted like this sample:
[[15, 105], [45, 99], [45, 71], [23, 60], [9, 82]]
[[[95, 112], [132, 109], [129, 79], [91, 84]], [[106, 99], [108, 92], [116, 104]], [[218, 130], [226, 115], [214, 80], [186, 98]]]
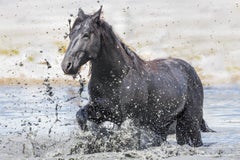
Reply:
[[101, 50], [96, 60], [92, 60], [92, 77], [103, 79], [123, 77], [131, 66], [131, 60], [126, 54], [120, 39], [113, 33], [108, 24], [102, 27]]

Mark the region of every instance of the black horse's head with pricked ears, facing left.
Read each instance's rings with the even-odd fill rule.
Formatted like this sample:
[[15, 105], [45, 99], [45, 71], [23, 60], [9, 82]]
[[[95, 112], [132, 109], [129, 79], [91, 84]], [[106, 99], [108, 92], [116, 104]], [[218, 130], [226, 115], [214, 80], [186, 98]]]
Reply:
[[79, 68], [89, 60], [97, 58], [101, 49], [101, 8], [92, 15], [79, 9], [69, 34], [70, 43], [62, 61], [65, 74], [77, 74]]

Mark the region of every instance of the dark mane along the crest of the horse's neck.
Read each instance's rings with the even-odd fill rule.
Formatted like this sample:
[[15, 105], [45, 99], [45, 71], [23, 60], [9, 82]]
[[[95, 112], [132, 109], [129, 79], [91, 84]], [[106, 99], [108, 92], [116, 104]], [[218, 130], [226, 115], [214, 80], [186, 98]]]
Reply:
[[127, 55], [127, 57], [132, 62], [132, 67], [136, 69], [137, 71], [141, 71], [143, 69], [143, 66], [145, 65], [145, 61], [141, 59], [128, 45], [126, 45], [114, 32], [112, 29], [112, 26], [109, 25], [107, 22], [102, 21], [101, 24], [103, 28], [103, 32], [105, 32], [103, 37], [104, 40], [111, 40], [112, 43], [116, 43], [114, 45], [118, 45], [122, 48], [124, 51], [123, 54]]

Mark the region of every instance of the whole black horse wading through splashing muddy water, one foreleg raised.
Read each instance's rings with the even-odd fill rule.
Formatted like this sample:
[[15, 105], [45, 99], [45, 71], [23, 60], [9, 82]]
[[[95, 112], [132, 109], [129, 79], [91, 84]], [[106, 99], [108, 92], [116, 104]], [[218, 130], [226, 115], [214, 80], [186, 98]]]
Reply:
[[62, 61], [66, 74], [76, 74], [88, 61], [92, 65], [90, 101], [77, 112], [81, 128], [87, 120], [121, 125], [130, 118], [166, 140], [177, 121], [177, 143], [201, 146], [201, 130], [210, 129], [203, 120], [203, 87], [194, 68], [180, 59], [142, 60], [100, 16], [101, 9], [93, 15], [79, 9]]

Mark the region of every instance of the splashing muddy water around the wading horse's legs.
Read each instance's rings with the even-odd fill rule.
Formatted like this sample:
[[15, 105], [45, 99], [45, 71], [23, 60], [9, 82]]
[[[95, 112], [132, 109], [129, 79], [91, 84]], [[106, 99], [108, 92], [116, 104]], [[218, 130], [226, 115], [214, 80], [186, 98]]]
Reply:
[[203, 147], [178, 146], [174, 135], [162, 146], [153, 147], [153, 135], [146, 131], [141, 137], [144, 150], [137, 150], [137, 130], [130, 122], [120, 129], [105, 124], [107, 136], [99, 134], [102, 132], [96, 128], [81, 132], [75, 113], [87, 102], [88, 95], [86, 88], [81, 97], [78, 91], [78, 87], [50, 84], [1, 86], [1, 159], [159, 159], [192, 155], [238, 159], [240, 156], [239, 88], [205, 88], [204, 116], [217, 133], [203, 133]]

